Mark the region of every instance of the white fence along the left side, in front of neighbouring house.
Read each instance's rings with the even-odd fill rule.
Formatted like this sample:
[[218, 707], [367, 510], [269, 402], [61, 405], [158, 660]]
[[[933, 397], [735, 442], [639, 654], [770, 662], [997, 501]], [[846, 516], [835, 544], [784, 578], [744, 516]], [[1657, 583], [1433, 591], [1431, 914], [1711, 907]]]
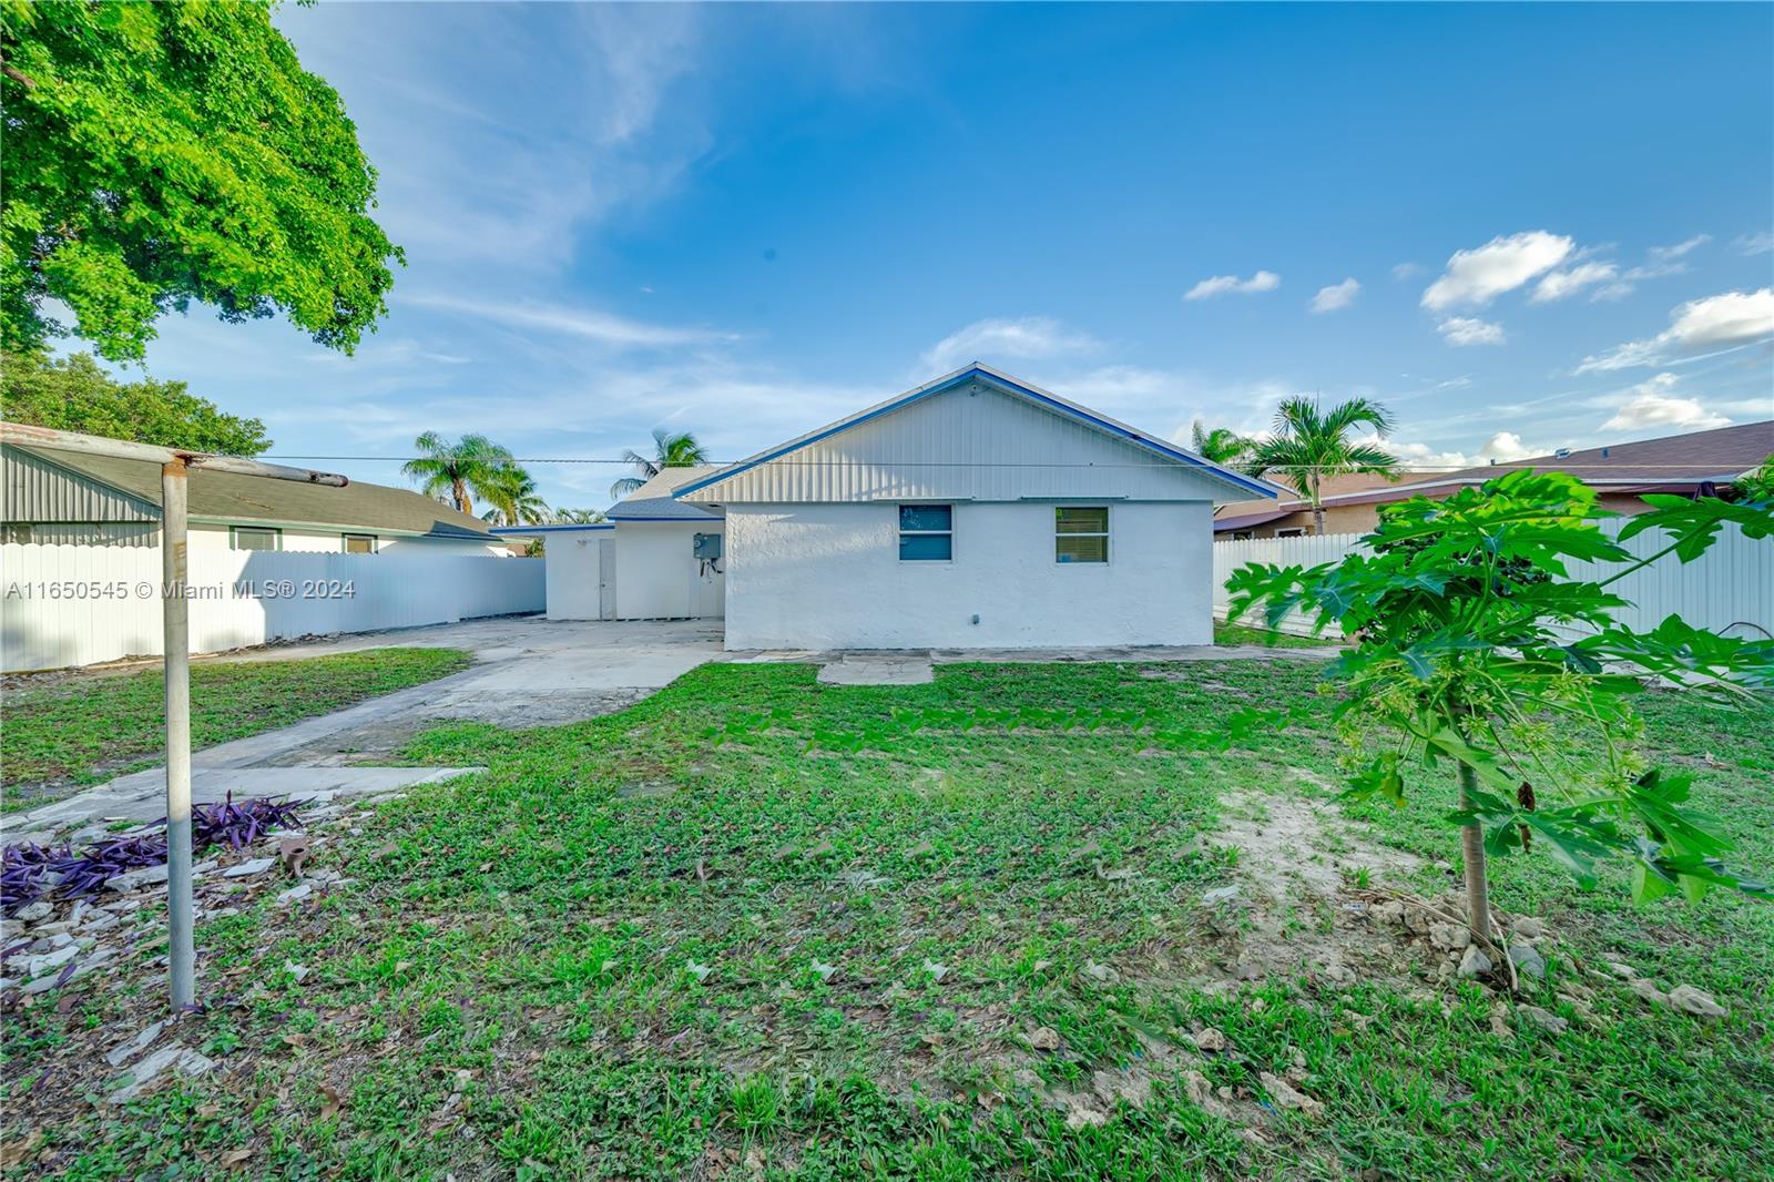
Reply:
[[[545, 563], [474, 554], [192, 550], [192, 651], [539, 612]], [[160, 547], [0, 547], [0, 667], [149, 657]]]

